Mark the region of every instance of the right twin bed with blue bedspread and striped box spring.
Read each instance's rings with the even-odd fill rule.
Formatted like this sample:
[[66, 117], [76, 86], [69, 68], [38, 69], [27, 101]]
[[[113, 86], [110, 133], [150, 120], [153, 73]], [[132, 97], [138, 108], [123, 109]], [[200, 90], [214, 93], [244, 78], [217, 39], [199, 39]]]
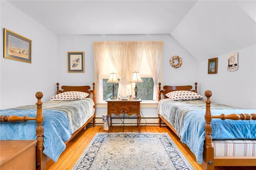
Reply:
[[[204, 162], [205, 168], [213, 169], [214, 166], [246, 166], [246, 164], [239, 164], [238, 162], [242, 159], [245, 162], [245, 159], [247, 159], [248, 165], [256, 166], [256, 110], [238, 109], [218, 103], [209, 103], [209, 111], [206, 111], [206, 103], [201, 99], [174, 101], [165, 95], [177, 90], [191, 91], [192, 86], [164, 86], [164, 89], [165, 91], [160, 91], [159, 88], [159, 94], [163, 93], [165, 98], [158, 103], [160, 122], [163, 120], [169, 124], [170, 128], [180, 137], [180, 140], [194, 153], [198, 163], [202, 164]], [[196, 90], [193, 91], [197, 93]], [[210, 93], [210, 91], [208, 92]], [[208, 96], [209, 102], [210, 96]], [[159, 99], [161, 99], [160, 95]], [[211, 123], [209, 125], [211, 127], [206, 127], [210, 130], [205, 129], [206, 113], [210, 115]], [[241, 115], [235, 115], [234, 113]], [[236, 118], [229, 120], [226, 119], [228, 117], [223, 116], [226, 117], [226, 120], [213, 119], [221, 114], [234, 114], [233, 116], [236, 116]], [[249, 117], [245, 118], [248, 121], [243, 121], [244, 115]], [[242, 120], [238, 120], [239, 117]], [[159, 126], [161, 125], [159, 124]], [[206, 153], [206, 148], [204, 148], [207, 130], [210, 131], [207, 135], [213, 139], [210, 140], [209, 144], [212, 149], [211, 160], [207, 160], [206, 157], [209, 157], [207, 156], [209, 153]], [[226, 164], [219, 163], [221, 158], [227, 160]], [[231, 161], [228, 161], [229, 159]], [[254, 164], [250, 163], [253, 161]]]

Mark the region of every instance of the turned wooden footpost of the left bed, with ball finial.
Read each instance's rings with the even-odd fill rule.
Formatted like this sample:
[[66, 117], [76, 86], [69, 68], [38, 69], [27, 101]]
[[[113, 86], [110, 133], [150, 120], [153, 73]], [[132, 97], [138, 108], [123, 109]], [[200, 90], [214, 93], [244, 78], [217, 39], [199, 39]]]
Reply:
[[43, 117], [43, 113], [42, 113], [42, 102], [41, 99], [43, 97], [43, 93], [42, 92], [37, 92], [36, 93], [36, 98], [37, 98], [37, 103], [36, 103], [36, 166], [37, 169], [41, 170], [44, 169], [45, 167], [45, 156], [43, 156], [43, 150], [44, 150], [44, 127], [43, 125], [43, 121], [44, 121], [44, 117]]

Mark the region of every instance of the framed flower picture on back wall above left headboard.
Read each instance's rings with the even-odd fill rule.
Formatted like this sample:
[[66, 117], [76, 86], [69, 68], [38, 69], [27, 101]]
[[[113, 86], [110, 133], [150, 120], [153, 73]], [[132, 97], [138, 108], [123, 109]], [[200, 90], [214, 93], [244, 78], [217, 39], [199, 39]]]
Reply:
[[84, 73], [84, 52], [68, 52], [68, 73]]

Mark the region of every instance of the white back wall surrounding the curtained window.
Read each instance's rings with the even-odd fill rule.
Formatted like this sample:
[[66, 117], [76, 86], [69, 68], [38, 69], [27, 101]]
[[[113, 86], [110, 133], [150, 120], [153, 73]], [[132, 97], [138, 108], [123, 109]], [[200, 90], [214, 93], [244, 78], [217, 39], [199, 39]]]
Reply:
[[[95, 41], [143, 41], [163, 40], [163, 76], [162, 85], [193, 85], [196, 81], [196, 61], [169, 34], [154, 35], [80, 35], [58, 36], [58, 60], [60, 85], [92, 85], [94, 82], [93, 42]], [[85, 72], [67, 72], [67, 52], [84, 51]], [[173, 68], [170, 59], [180, 55], [183, 63], [180, 68]], [[97, 92], [96, 92], [97, 93]], [[145, 117], [157, 117], [157, 108], [143, 108]], [[106, 113], [106, 108], [97, 109], [96, 116]]]

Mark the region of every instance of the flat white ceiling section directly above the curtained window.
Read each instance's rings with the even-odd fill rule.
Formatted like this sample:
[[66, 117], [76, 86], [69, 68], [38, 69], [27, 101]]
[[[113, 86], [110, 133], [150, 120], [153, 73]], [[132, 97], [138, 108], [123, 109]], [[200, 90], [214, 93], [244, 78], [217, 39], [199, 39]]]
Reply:
[[56, 34], [170, 34], [196, 1], [12, 1]]

